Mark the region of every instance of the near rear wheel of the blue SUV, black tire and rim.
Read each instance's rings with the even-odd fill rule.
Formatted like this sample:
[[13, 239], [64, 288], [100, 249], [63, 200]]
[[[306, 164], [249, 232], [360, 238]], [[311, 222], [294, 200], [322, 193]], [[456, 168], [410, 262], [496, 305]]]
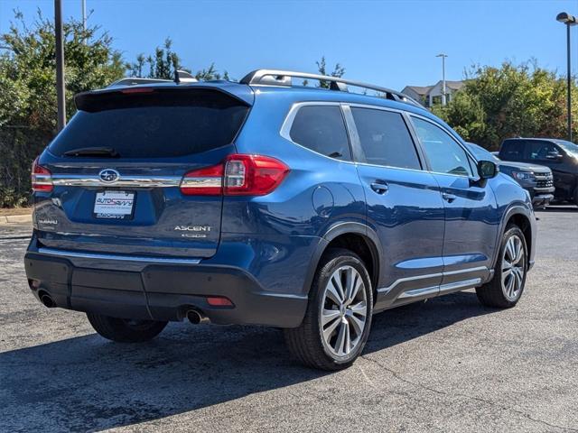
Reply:
[[331, 249], [315, 273], [299, 327], [284, 329], [289, 350], [303, 364], [334, 371], [349, 367], [363, 351], [373, 314], [373, 290], [355, 253]]

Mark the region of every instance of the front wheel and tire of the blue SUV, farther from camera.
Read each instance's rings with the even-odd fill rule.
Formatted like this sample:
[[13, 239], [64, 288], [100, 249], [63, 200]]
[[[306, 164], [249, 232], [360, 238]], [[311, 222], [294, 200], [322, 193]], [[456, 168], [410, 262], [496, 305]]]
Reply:
[[491, 281], [476, 288], [478, 299], [487, 307], [514, 307], [524, 292], [526, 274], [526, 238], [518, 226], [508, 226], [502, 237], [494, 276]]

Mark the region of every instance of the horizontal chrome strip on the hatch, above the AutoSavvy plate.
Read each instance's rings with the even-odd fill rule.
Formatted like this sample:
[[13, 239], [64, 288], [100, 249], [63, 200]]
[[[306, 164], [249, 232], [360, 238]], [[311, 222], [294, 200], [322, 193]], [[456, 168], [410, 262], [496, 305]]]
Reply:
[[52, 184], [65, 187], [128, 187], [128, 188], [170, 188], [181, 185], [177, 176], [121, 176], [115, 182], [103, 182], [97, 175], [54, 174]]

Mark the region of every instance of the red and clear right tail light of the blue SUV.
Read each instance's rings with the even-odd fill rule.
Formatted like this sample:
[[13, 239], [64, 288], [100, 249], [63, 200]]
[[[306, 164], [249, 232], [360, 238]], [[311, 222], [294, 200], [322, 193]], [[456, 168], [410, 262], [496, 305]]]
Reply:
[[265, 196], [288, 172], [282, 161], [269, 156], [233, 154], [219, 165], [187, 172], [181, 191], [187, 196]]

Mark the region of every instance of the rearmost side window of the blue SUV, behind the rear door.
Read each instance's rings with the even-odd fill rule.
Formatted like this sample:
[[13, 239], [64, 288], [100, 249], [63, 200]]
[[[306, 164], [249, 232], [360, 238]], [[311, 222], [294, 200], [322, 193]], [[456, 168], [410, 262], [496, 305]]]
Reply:
[[343, 115], [339, 106], [302, 106], [295, 115], [291, 140], [338, 160], [351, 160]]

